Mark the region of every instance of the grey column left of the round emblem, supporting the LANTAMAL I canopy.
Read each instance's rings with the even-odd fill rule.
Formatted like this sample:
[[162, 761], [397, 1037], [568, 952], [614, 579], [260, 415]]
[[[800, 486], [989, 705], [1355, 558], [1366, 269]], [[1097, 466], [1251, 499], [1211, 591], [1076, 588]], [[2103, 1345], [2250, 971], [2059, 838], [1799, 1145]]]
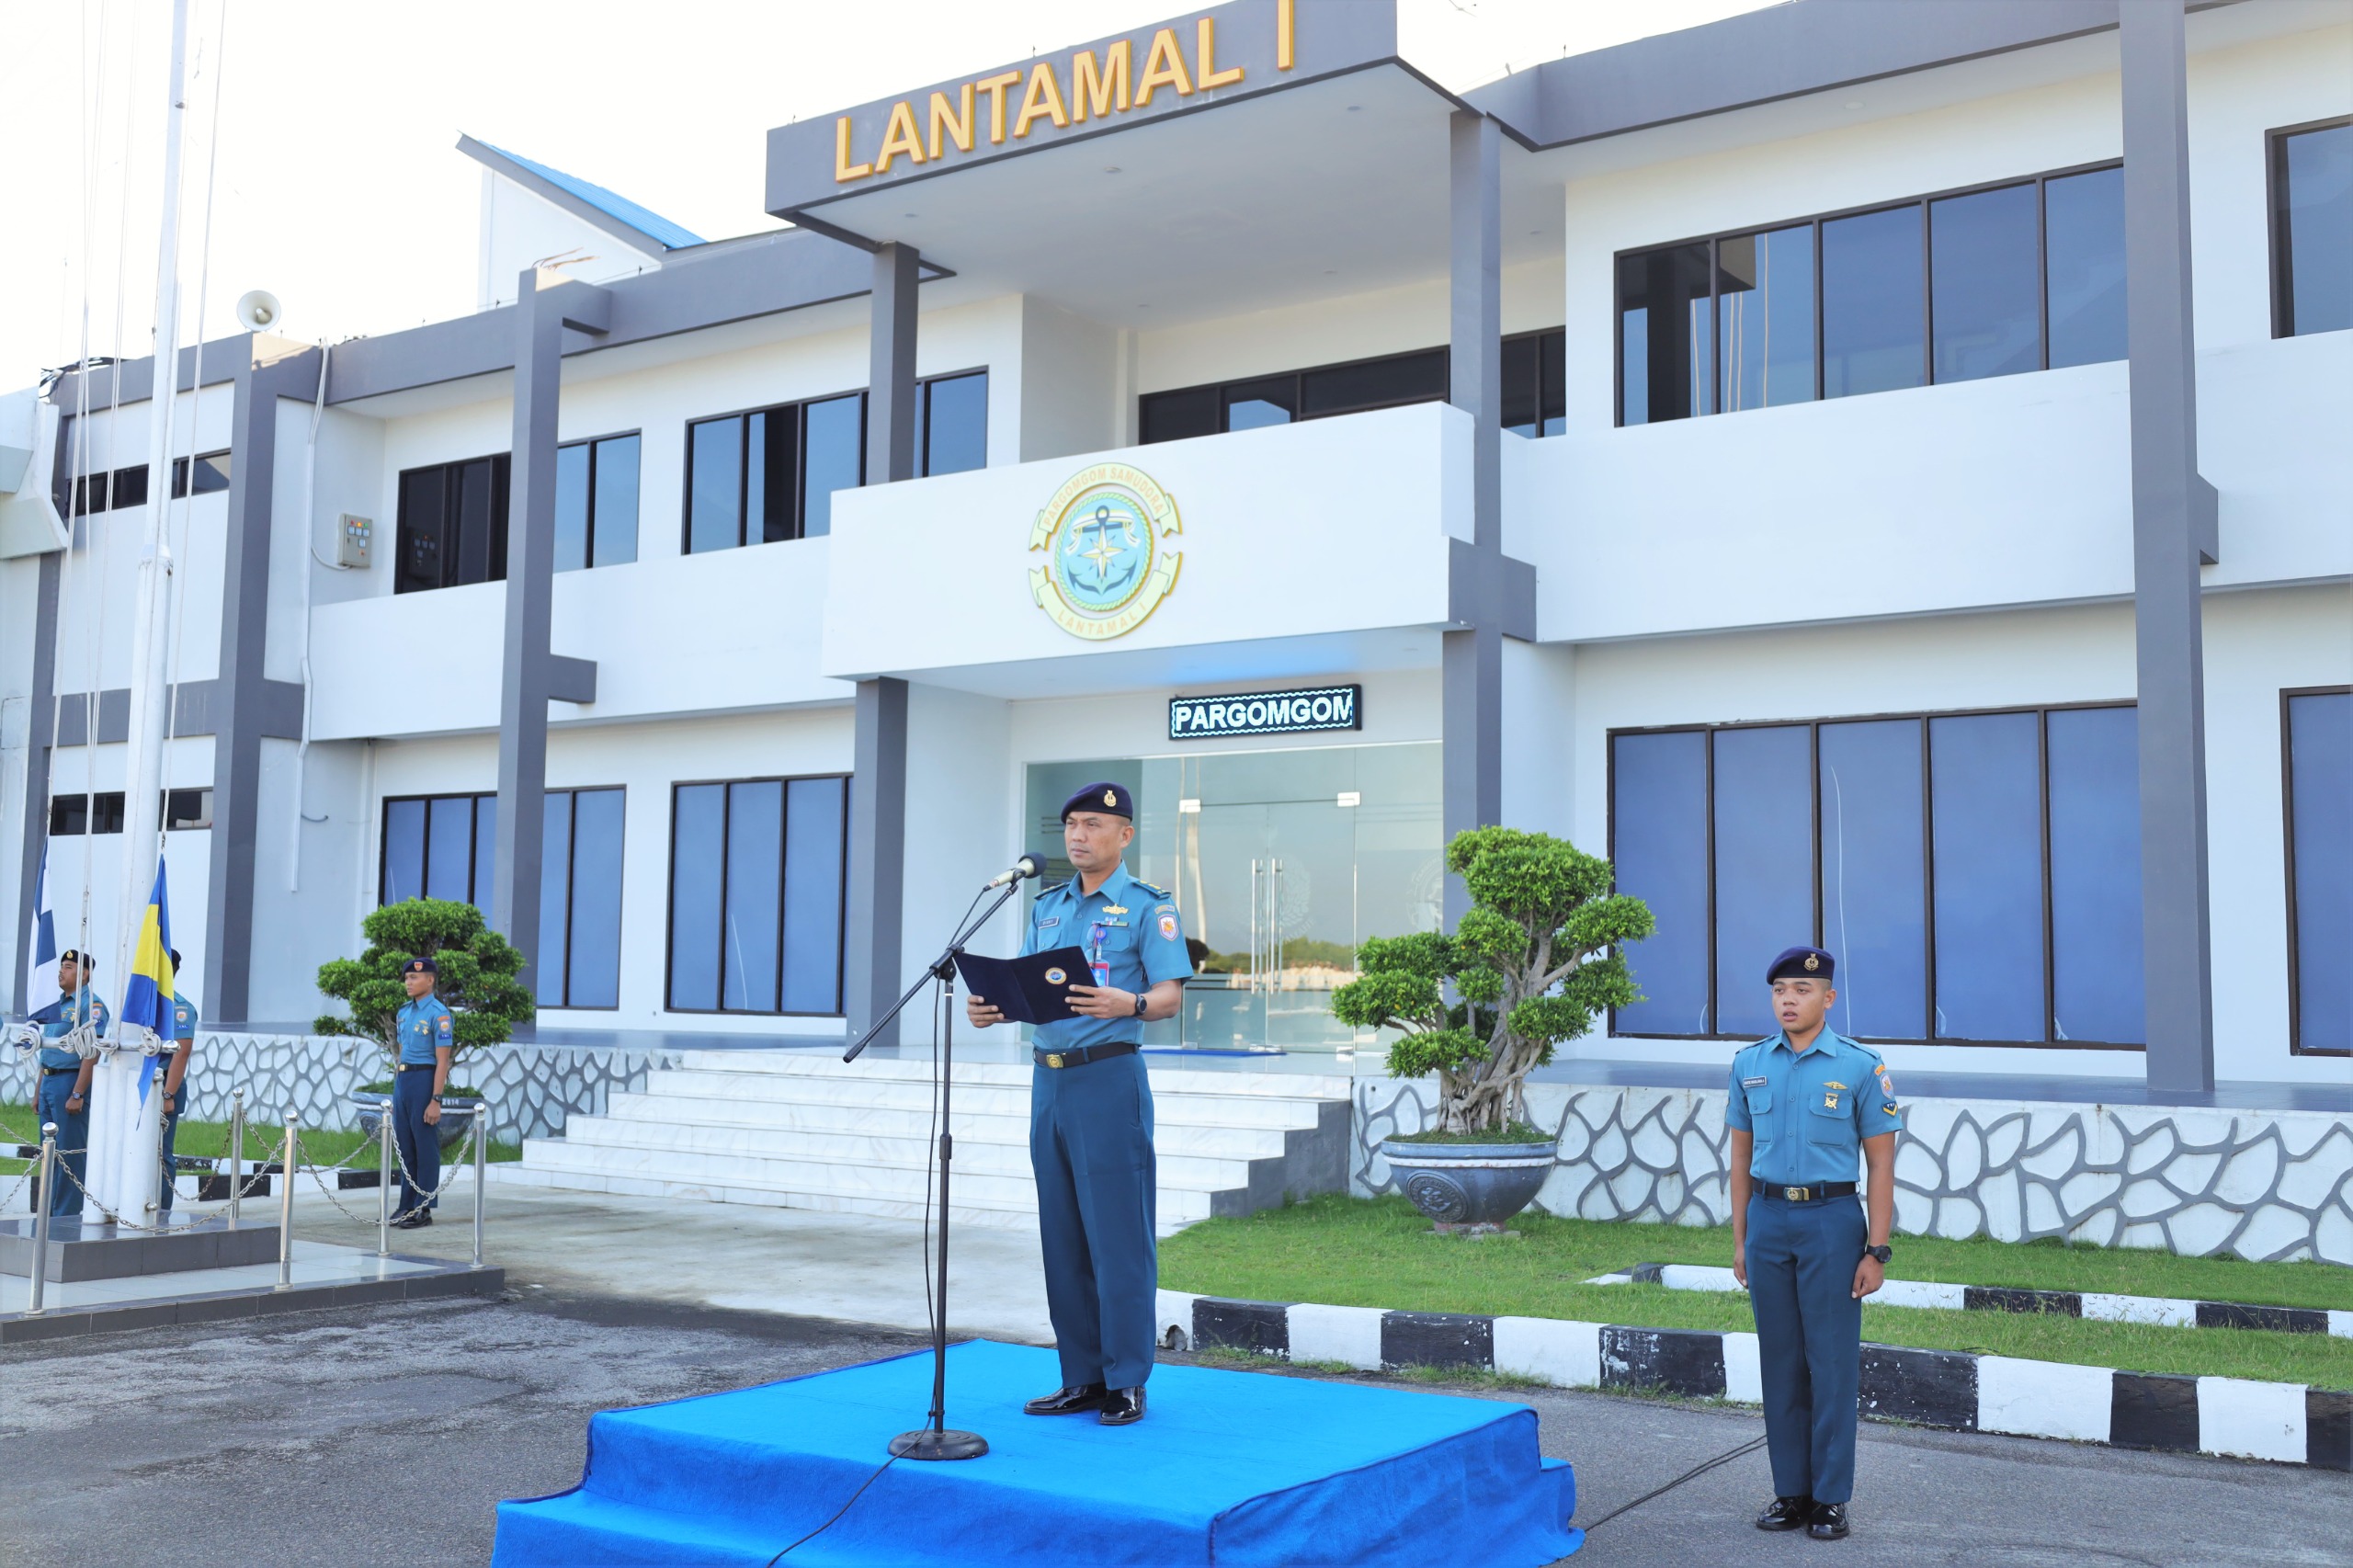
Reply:
[[[866, 483], [915, 478], [913, 245], [878, 245], [866, 372]], [[906, 680], [859, 680], [849, 775], [849, 930], [842, 932], [842, 1010], [856, 1038], [889, 1012], [904, 984], [906, 918]], [[880, 1041], [889, 1045], [896, 1034]]]

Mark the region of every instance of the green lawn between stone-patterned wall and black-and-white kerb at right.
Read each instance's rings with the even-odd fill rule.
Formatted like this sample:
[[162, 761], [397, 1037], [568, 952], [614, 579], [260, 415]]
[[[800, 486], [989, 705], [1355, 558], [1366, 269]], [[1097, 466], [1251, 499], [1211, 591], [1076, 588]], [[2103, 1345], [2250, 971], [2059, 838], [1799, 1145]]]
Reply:
[[[1160, 1285], [1252, 1302], [1518, 1314], [1635, 1328], [1755, 1328], [1744, 1295], [1584, 1283], [1638, 1262], [1729, 1264], [1727, 1229], [1555, 1220], [1534, 1210], [1511, 1224], [1515, 1236], [1438, 1236], [1405, 1198], [1322, 1196], [1247, 1220], [1202, 1220], [1162, 1241]], [[2353, 1309], [2353, 1269], [2337, 1264], [1918, 1236], [1897, 1236], [1894, 1248], [1897, 1278]], [[2353, 1340], [2329, 1335], [1866, 1304], [1864, 1337], [2139, 1373], [2353, 1389]]]

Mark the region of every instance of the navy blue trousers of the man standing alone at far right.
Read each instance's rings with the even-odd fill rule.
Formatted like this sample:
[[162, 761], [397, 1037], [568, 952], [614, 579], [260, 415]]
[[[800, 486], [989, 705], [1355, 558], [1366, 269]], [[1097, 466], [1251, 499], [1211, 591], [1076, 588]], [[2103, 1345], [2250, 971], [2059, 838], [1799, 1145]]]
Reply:
[[1758, 1314], [1765, 1448], [1777, 1497], [1854, 1497], [1854, 1396], [1864, 1366], [1857, 1198], [1748, 1198], [1748, 1304]]

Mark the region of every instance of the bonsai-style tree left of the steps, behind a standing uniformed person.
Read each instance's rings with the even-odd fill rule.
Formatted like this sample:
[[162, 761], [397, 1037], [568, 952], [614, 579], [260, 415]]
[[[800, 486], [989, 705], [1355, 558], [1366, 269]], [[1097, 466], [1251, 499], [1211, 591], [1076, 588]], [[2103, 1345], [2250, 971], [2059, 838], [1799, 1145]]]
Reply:
[[438, 1123], [442, 1149], [449, 1149], [482, 1107], [480, 1092], [461, 1078], [468, 1052], [506, 1041], [515, 1024], [539, 1010], [532, 994], [515, 982], [522, 954], [489, 930], [480, 909], [452, 899], [386, 904], [360, 921], [360, 932], [367, 937], [365, 954], [318, 965], [318, 989], [351, 1008], [351, 1015], [325, 1012], [311, 1026], [318, 1034], [374, 1041], [384, 1052], [381, 1076], [351, 1095], [360, 1130], [374, 1137], [379, 1111], [393, 1092], [393, 1059], [400, 1055], [395, 1017], [409, 1001], [400, 970], [409, 958], [433, 958], [440, 968], [435, 994], [456, 1015], [449, 1031], [454, 1036], [449, 1083], [442, 1085]]

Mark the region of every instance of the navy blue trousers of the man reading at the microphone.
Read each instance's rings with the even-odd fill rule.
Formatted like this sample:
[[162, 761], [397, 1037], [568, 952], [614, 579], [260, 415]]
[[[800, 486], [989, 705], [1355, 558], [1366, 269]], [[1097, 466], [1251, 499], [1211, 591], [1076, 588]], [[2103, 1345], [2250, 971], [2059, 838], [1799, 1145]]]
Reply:
[[1153, 1375], [1153, 1088], [1144, 1057], [1038, 1067], [1031, 1168], [1045, 1304], [1066, 1387], [1141, 1389]]

